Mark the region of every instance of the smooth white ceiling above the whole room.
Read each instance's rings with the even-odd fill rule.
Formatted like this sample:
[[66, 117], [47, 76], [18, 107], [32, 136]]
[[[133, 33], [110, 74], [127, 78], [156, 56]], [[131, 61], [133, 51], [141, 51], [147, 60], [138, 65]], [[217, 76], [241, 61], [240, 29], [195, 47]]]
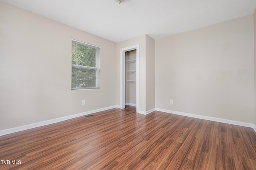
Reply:
[[256, 0], [0, 0], [110, 41], [154, 39], [253, 14]]

